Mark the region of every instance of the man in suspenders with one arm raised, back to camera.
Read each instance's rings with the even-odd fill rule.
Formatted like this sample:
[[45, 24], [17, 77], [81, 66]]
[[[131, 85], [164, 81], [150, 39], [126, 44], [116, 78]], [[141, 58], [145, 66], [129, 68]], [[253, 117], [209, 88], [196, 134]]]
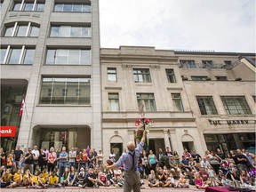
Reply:
[[112, 165], [104, 164], [104, 168], [116, 169], [124, 164], [124, 192], [140, 192], [140, 172], [137, 171], [140, 152], [143, 149], [147, 131], [144, 130], [141, 141], [137, 148], [132, 141], [127, 144], [127, 152], [120, 156], [119, 160]]

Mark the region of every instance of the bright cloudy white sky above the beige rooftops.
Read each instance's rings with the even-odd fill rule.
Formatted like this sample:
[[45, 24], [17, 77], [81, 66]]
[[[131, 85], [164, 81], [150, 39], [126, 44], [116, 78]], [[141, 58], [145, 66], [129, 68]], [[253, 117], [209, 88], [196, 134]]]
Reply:
[[100, 46], [256, 52], [255, 0], [100, 0]]

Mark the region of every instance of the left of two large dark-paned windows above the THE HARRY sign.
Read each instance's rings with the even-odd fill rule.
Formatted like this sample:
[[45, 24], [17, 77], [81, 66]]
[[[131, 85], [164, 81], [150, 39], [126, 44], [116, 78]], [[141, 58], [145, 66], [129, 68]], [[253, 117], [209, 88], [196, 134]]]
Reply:
[[196, 96], [196, 100], [200, 108], [201, 115], [218, 114], [212, 96]]

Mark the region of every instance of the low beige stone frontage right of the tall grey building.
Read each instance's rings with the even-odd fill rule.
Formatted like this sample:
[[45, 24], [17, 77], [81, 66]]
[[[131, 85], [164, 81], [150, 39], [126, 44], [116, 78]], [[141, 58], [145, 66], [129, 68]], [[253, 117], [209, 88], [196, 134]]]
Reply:
[[102, 48], [104, 153], [113, 148], [121, 155], [129, 140], [136, 141], [141, 105], [145, 117], [155, 121], [148, 145], [155, 153], [166, 147], [179, 154], [195, 148], [202, 155], [207, 148], [227, 153], [253, 147], [255, 56], [241, 54], [246, 57], [140, 46]]

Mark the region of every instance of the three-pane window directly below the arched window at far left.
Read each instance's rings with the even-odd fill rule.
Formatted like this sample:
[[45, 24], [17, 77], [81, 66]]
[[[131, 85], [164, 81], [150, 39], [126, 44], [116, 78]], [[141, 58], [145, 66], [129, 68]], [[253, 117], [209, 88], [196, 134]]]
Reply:
[[11, 47], [1, 48], [1, 64], [28, 64], [34, 62], [35, 49], [27, 48], [24, 45], [22, 48]]

